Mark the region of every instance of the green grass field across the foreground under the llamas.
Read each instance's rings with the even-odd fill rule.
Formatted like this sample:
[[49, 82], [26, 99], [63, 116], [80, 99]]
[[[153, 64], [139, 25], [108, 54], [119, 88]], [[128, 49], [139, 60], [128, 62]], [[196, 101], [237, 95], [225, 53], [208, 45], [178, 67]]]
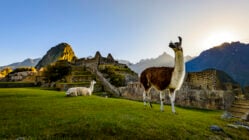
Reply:
[[[0, 88], [0, 139], [248, 139], [222, 111], [176, 108], [99, 96], [65, 97], [38, 88]], [[231, 120], [230, 120], [231, 121]], [[210, 131], [211, 125], [224, 132]]]

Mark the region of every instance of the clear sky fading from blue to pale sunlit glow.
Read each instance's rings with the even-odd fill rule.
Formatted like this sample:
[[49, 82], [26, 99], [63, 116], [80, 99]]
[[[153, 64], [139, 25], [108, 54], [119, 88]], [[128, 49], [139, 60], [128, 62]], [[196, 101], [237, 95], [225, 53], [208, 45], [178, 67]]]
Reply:
[[183, 38], [184, 55], [249, 42], [248, 0], [0, 0], [0, 66], [41, 58], [61, 42], [78, 58], [136, 63]]

